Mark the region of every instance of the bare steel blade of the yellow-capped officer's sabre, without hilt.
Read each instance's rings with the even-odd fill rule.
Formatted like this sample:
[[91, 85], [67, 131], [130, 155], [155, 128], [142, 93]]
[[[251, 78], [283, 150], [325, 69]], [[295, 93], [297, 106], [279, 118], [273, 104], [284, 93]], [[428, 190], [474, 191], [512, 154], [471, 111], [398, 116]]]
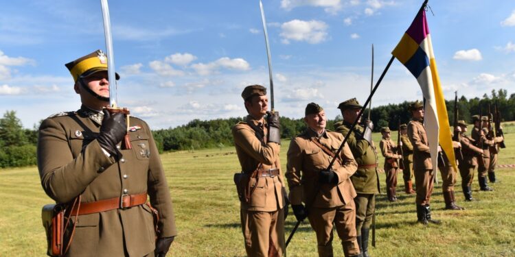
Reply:
[[115, 76], [115, 58], [113, 53], [113, 37], [111, 36], [111, 19], [107, 0], [100, 0], [102, 5], [102, 18], [104, 19], [104, 35], [106, 36], [107, 73], [109, 76], [109, 106], [117, 107], [118, 95]]

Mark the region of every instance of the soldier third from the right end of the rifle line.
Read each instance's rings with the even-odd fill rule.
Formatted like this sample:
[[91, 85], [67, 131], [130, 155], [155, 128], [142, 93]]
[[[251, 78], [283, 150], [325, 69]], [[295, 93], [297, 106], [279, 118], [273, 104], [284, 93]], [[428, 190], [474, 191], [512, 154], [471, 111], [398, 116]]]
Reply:
[[467, 136], [467, 123], [458, 121], [457, 131], [459, 133], [459, 143], [461, 145], [461, 154], [463, 160], [459, 160], [458, 169], [461, 175], [461, 188], [465, 195], [465, 201], [472, 201], [472, 180], [474, 178], [474, 169], [477, 166], [477, 156], [483, 155], [483, 149], [474, 145], [474, 139]]

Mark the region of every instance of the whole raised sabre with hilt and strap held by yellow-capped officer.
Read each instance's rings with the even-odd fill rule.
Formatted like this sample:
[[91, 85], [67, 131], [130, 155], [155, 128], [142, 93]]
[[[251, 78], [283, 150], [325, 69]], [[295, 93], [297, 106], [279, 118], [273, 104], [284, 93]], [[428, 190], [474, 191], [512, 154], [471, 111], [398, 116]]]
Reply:
[[[129, 110], [128, 108], [119, 108], [117, 105], [117, 82], [115, 75], [115, 55], [113, 53], [113, 37], [111, 36], [111, 19], [109, 18], [109, 6], [107, 0], [100, 0], [102, 5], [102, 19], [104, 20], [104, 36], [106, 38], [106, 51], [107, 51], [107, 74], [109, 81], [109, 106], [106, 108], [108, 112], [115, 113], [121, 112], [126, 114], [127, 132], [129, 127]], [[124, 149], [132, 149], [130, 145], [130, 138], [128, 134], [124, 138]]]

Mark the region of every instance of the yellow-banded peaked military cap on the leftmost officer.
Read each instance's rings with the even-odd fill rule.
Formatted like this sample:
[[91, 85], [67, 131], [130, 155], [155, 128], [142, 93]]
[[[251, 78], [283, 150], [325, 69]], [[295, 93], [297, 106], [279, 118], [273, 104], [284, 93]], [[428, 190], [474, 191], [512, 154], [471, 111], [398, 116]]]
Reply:
[[[97, 50], [73, 62], [68, 62], [65, 66], [70, 71], [73, 81], [77, 82], [79, 77], [88, 77], [97, 71], [107, 71], [107, 56], [102, 50]], [[115, 74], [116, 79], [119, 79], [118, 73]]]

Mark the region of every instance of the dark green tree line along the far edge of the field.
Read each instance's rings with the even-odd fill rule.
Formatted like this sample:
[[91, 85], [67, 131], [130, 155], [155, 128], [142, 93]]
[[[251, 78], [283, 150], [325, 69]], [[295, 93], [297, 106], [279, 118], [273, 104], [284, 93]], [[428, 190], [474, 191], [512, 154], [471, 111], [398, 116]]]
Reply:
[[[371, 110], [371, 120], [375, 124], [374, 130], [380, 127], [390, 127], [397, 130], [400, 123], [407, 123], [410, 114], [407, 111], [408, 101], [387, 106], [378, 106]], [[515, 120], [515, 93], [509, 97], [507, 90], [492, 90], [491, 95], [483, 95], [482, 98], [474, 97], [467, 99], [464, 96], [458, 99], [458, 116], [470, 123], [470, 117], [474, 114], [488, 113], [488, 106], [494, 112], [494, 105], [497, 104], [501, 113], [502, 121]], [[449, 122], [453, 123], [455, 101], [446, 101], [449, 115]], [[364, 117], [367, 117], [368, 110]], [[174, 150], [196, 150], [203, 148], [225, 147], [233, 145], [231, 127], [242, 121], [244, 117], [229, 119], [214, 119], [201, 121], [194, 119], [186, 125], [169, 128], [165, 130], [152, 131], [157, 143], [159, 152]], [[328, 120], [328, 129], [334, 129], [334, 123], [341, 121], [341, 115]], [[303, 119], [290, 119], [281, 117], [282, 138], [293, 138], [306, 129]], [[0, 168], [23, 167], [36, 164], [37, 130], [25, 129], [16, 117], [16, 112], [8, 110], [0, 119]]]

